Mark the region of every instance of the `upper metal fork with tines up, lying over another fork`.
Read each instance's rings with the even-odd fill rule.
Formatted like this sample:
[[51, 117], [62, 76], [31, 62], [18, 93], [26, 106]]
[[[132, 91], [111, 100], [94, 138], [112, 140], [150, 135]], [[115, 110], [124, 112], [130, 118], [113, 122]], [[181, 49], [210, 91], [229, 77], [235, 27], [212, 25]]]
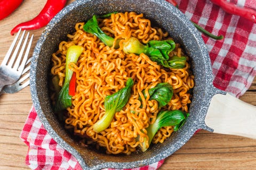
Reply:
[[[22, 71], [24, 70], [24, 67], [26, 65], [26, 62], [28, 60], [28, 54], [29, 54], [29, 50], [30, 50], [34, 35], [30, 37], [28, 46], [26, 48], [27, 41], [29, 38], [29, 32], [27, 33], [27, 36], [23, 41], [23, 37], [25, 36], [25, 32], [26, 32], [26, 31], [23, 31], [20, 37], [20, 40], [17, 44], [17, 47], [14, 49], [14, 46], [17, 43], [17, 40], [19, 38], [20, 32], [21, 32], [21, 29], [18, 31], [17, 35], [15, 36], [11, 44], [11, 47], [6, 53], [4, 60], [0, 66], [0, 91], [3, 89], [5, 85], [13, 84], [14, 82], [19, 80], [19, 78], [21, 77]], [[23, 45], [20, 49], [22, 41], [23, 41]], [[26, 48], [26, 52], [25, 52], [25, 55], [23, 55], [25, 48]], [[18, 52], [19, 52], [19, 55], [18, 55]]]

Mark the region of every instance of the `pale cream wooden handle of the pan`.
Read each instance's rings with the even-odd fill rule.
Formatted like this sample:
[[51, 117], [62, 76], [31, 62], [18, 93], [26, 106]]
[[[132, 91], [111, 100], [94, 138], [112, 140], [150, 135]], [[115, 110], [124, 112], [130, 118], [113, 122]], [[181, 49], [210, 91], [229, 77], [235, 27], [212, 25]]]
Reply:
[[215, 133], [256, 139], [256, 107], [229, 94], [214, 95], [205, 124]]

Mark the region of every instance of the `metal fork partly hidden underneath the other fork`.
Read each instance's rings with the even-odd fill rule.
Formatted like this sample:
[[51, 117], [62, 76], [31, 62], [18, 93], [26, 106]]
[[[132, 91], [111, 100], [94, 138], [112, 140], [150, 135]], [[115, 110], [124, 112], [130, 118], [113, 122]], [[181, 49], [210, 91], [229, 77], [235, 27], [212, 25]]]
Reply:
[[[26, 65], [30, 64], [30, 62], [31, 62], [31, 58], [28, 59]], [[30, 65], [25, 67], [25, 69], [23, 70], [23, 72], [21, 74], [21, 78], [13, 84], [6, 85], [3, 88], [3, 90], [0, 92], [0, 95], [2, 95], [2, 94], [14, 94], [14, 93], [22, 90], [23, 88], [27, 87], [30, 83], [29, 70], [30, 70]]]

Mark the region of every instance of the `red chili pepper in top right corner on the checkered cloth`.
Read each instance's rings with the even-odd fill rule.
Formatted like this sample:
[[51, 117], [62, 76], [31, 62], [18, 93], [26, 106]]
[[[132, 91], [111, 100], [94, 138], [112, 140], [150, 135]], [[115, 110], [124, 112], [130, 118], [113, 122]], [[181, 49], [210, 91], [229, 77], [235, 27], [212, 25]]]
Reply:
[[242, 16], [243, 18], [256, 23], [256, 10], [249, 7], [239, 7], [236, 4], [224, 0], [211, 0], [213, 4], [220, 6], [224, 11], [230, 14]]

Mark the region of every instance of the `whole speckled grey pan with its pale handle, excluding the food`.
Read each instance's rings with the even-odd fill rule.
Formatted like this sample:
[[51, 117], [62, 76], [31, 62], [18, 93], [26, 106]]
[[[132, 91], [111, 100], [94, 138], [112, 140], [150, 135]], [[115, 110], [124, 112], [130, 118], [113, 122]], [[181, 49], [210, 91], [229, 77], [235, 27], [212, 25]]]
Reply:
[[[164, 143], [151, 145], [146, 152], [137, 151], [131, 155], [106, 155], [79, 145], [54, 115], [47, 83], [51, 55], [60, 41], [75, 31], [75, 23], [86, 21], [93, 14], [114, 11], [143, 13], [153, 24], [164, 28], [191, 57], [195, 75], [187, 122]], [[198, 129], [256, 139], [256, 108], [215, 88], [212, 80], [210, 57], [201, 35], [185, 15], [161, 0], [76, 0], [58, 13], [43, 31], [33, 53], [30, 71], [31, 97], [40, 120], [51, 137], [73, 154], [83, 169], [133, 168], [155, 163], [182, 147]]]

